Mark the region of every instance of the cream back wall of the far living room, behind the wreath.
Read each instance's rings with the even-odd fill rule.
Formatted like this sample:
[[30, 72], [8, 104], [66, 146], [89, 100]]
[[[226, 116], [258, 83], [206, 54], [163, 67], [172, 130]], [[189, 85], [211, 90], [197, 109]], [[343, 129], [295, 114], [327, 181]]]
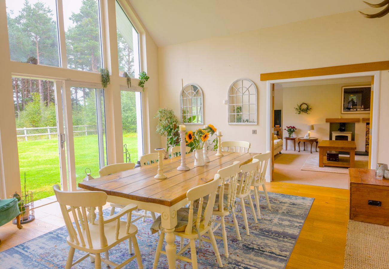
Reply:
[[[321, 140], [329, 139], [329, 123], [326, 118], [369, 118], [369, 113], [341, 114], [342, 87], [370, 85], [371, 82], [327, 84], [285, 87], [283, 91], [284, 126], [295, 126], [295, 136], [304, 136], [307, 131], [307, 124], [314, 124], [315, 129], [311, 131], [312, 137]], [[294, 108], [302, 102], [312, 106], [310, 114], [296, 114]], [[285, 128], [285, 127], [284, 127]], [[285, 133], [286, 134], [286, 133]], [[365, 151], [366, 123], [355, 124], [355, 143], [357, 151]], [[285, 143], [284, 143], [285, 146]]]

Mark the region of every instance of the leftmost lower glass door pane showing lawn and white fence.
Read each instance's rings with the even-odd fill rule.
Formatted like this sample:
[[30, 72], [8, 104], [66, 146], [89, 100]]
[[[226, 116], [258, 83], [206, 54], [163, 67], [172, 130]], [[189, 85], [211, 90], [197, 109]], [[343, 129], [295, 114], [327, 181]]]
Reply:
[[35, 200], [52, 196], [53, 185], [61, 185], [54, 82], [13, 77], [12, 88], [22, 189], [26, 174]]

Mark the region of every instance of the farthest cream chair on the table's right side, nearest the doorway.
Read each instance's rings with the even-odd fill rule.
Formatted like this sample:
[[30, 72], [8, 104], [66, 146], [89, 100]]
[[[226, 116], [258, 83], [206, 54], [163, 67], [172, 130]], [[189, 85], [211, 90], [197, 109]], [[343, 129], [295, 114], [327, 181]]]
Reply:
[[266, 153], [264, 153], [264, 154], [258, 154], [258, 155], [255, 155], [254, 157], [252, 157], [252, 159], [257, 159], [259, 161], [258, 171], [257, 171], [256, 175], [254, 176], [252, 183], [251, 183], [251, 186], [254, 187], [254, 197], [255, 197], [255, 203], [257, 206], [258, 218], [261, 218], [261, 211], [259, 208], [259, 197], [258, 197], [258, 192], [259, 192], [258, 187], [259, 186], [262, 186], [263, 193], [265, 194], [266, 202], [268, 204], [268, 208], [270, 210], [272, 210], [272, 207], [270, 206], [269, 196], [268, 196], [267, 190], [266, 190], [266, 185], [265, 185], [266, 169], [267, 169], [268, 162], [270, 159], [270, 154], [271, 154], [270, 151], [266, 151]]

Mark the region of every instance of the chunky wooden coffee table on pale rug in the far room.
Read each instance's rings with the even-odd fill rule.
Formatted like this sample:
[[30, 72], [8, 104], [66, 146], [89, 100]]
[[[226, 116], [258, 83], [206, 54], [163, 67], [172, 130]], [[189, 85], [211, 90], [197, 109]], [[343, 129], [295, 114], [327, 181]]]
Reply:
[[[322, 140], [318, 146], [319, 148], [319, 167], [340, 166], [354, 168], [355, 150], [357, 145], [355, 141], [345, 140]], [[350, 152], [350, 157], [339, 156], [339, 161], [327, 161], [327, 151], [345, 151]]]

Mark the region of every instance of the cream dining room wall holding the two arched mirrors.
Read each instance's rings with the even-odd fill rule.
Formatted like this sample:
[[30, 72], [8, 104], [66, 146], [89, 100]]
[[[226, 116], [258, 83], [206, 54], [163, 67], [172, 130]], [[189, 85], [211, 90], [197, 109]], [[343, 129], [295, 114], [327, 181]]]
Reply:
[[[179, 114], [181, 78], [184, 84], [196, 83], [204, 91], [205, 122], [223, 131], [223, 140], [250, 141], [252, 152], [263, 152], [266, 82], [259, 80], [259, 74], [388, 60], [388, 25], [389, 16], [366, 19], [358, 12], [347, 12], [161, 47], [158, 49], [160, 105]], [[227, 99], [230, 84], [241, 77], [251, 79], [258, 87], [258, 125], [227, 124], [223, 100]], [[380, 105], [381, 112], [386, 113], [388, 80], [389, 73], [382, 72]], [[380, 113], [379, 140], [386, 140], [389, 126], [382, 116]], [[252, 129], [258, 129], [258, 134], [252, 135]], [[389, 161], [389, 152], [378, 149], [378, 161], [384, 159]]]

